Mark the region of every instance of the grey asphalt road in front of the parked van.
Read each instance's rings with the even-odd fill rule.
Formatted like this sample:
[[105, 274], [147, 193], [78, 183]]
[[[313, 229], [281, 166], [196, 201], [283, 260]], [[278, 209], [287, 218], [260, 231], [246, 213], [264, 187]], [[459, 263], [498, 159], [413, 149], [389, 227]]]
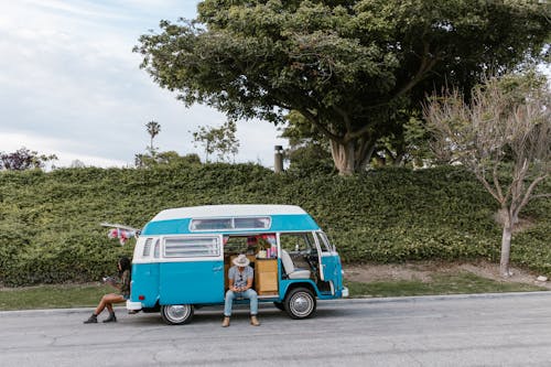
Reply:
[[184, 326], [89, 312], [0, 312], [0, 366], [551, 366], [551, 292], [320, 302], [303, 321], [262, 306], [259, 327], [247, 309], [228, 328], [220, 307]]

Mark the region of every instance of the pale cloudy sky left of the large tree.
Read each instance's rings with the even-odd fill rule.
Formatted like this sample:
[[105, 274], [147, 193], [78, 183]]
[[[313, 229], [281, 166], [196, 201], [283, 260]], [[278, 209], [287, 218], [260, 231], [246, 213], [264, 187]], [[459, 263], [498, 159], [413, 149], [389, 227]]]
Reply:
[[[132, 166], [156, 121], [160, 151], [197, 153], [193, 131], [226, 121], [213, 108], [186, 108], [154, 84], [132, 53], [159, 21], [193, 19], [195, 0], [0, 0], [0, 152], [25, 147], [56, 154], [56, 166]], [[237, 162], [273, 166], [287, 140], [273, 125], [239, 121]]]

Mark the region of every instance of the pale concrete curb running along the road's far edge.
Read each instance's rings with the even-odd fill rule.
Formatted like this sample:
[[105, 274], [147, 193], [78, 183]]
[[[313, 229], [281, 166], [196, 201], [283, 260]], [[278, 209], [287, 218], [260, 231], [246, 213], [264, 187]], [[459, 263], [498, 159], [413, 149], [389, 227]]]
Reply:
[[[323, 304], [344, 304], [344, 303], [398, 303], [398, 302], [428, 302], [428, 301], [453, 301], [453, 300], [473, 300], [473, 299], [504, 299], [517, 296], [548, 296], [551, 298], [550, 291], [538, 292], [507, 292], [507, 293], [473, 293], [473, 294], [442, 294], [442, 295], [412, 295], [412, 296], [388, 296], [388, 298], [358, 298], [358, 299], [339, 299], [320, 301]], [[269, 304], [269, 303], [267, 303]], [[260, 304], [262, 305], [262, 304]], [[116, 311], [126, 312], [125, 306], [116, 306]], [[45, 309], [45, 310], [18, 310], [18, 311], [0, 311], [1, 316], [30, 316], [30, 315], [48, 315], [48, 314], [88, 314], [94, 311], [94, 307], [76, 307], [76, 309]]]

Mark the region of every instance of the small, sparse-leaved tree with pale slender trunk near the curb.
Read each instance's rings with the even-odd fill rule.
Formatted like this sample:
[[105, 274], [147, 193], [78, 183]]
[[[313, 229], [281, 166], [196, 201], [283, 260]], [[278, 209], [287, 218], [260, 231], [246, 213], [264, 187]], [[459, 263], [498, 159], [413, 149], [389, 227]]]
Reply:
[[[505, 214], [499, 269], [510, 277], [511, 235], [529, 201], [550, 196], [536, 186], [550, 176], [551, 94], [533, 73], [491, 77], [473, 89], [471, 102], [456, 89], [434, 97], [424, 116], [442, 160], [472, 171]], [[504, 172], [511, 180], [504, 180]]]

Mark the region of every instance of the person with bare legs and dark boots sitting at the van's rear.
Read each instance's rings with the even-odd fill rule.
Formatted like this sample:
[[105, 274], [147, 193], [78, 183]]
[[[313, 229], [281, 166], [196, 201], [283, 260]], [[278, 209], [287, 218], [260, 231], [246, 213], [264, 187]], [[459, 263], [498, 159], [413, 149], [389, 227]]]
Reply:
[[131, 262], [127, 257], [120, 258], [117, 262], [117, 268], [119, 270], [120, 282], [108, 281], [108, 283], [120, 290], [119, 293], [109, 293], [101, 298], [99, 301], [96, 311], [91, 314], [88, 320], [86, 320], [85, 324], [95, 324], [98, 322], [98, 315], [106, 307], [109, 311], [109, 317], [104, 320], [105, 323], [117, 322], [117, 317], [115, 316], [115, 311], [112, 309], [114, 303], [126, 302], [130, 298], [130, 271], [131, 271]]

